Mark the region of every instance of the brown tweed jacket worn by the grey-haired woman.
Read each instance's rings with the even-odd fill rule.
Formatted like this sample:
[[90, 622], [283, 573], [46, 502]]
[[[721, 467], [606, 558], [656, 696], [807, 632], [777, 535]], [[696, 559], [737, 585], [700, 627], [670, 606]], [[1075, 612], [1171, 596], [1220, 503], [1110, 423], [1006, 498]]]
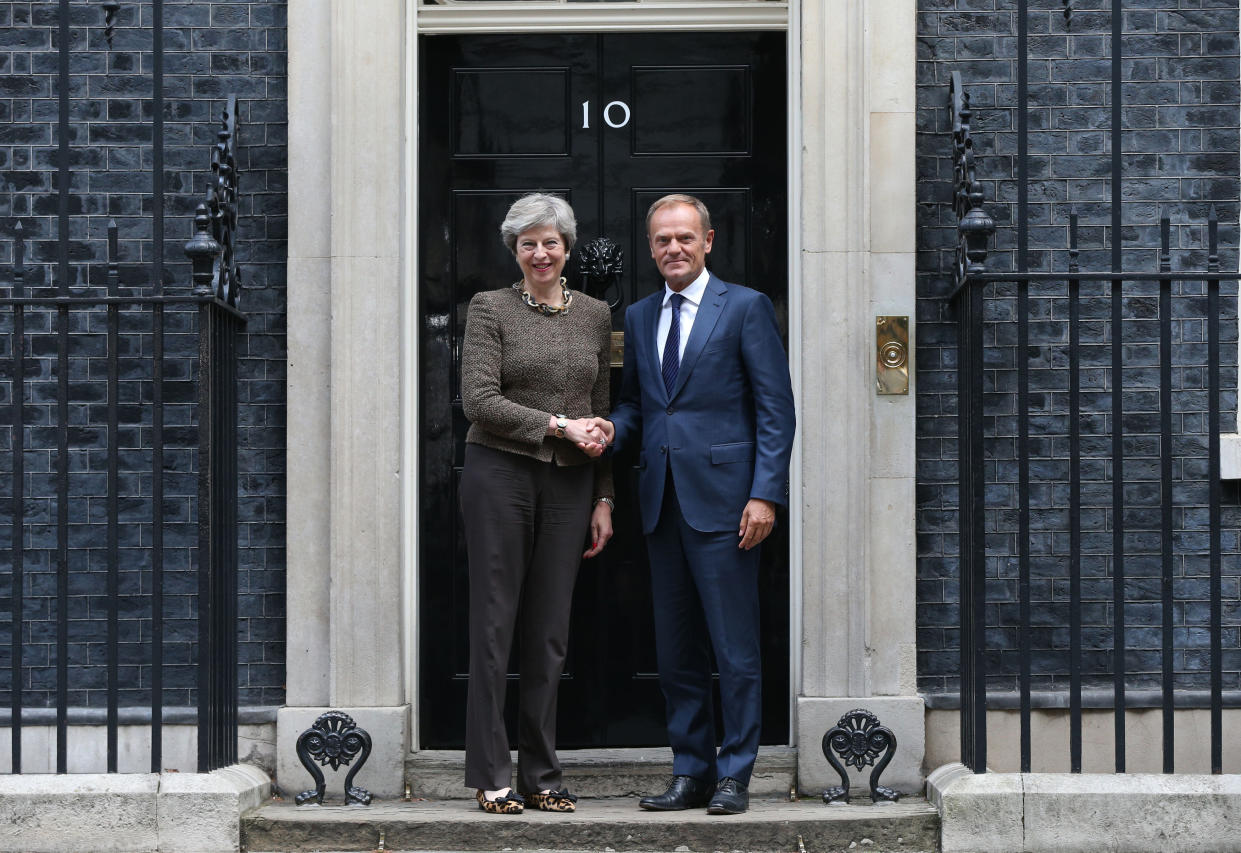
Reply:
[[612, 463], [547, 435], [552, 415], [611, 411], [612, 312], [573, 291], [565, 314], [532, 310], [511, 287], [469, 303], [462, 346], [465, 441], [561, 466], [594, 463], [594, 497], [611, 498]]

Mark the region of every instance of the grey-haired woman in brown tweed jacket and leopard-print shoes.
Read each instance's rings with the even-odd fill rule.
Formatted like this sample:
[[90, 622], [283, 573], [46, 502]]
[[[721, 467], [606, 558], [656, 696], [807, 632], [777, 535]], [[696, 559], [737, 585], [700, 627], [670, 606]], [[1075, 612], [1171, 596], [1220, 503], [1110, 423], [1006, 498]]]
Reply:
[[[556, 690], [578, 562], [612, 538], [612, 472], [597, 461], [606, 440], [588, 420], [609, 411], [612, 313], [561, 277], [577, 236], [563, 199], [519, 199], [500, 233], [522, 277], [474, 297], [462, 349], [470, 421], [460, 488], [469, 555], [465, 786], [491, 813], [519, 813], [526, 801], [571, 812], [576, 797], [556, 757]], [[514, 630], [520, 795], [510, 787], [504, 726]]]

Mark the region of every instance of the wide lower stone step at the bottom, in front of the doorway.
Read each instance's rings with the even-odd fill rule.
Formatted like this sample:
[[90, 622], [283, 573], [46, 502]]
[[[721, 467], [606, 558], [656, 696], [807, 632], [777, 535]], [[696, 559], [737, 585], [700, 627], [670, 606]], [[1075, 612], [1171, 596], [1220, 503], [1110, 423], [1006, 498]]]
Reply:
[[242, 849], [576, 851], [598, 853], [936, 853], [939, 817], [922, 798], [824, 806], [752, 797], [745, 815], [645, 812], [633, 797], [588, 800], [573, 815], [486, 815], [473, 802], [414, 800], [369, 807], [271, 802], [242, 818]]

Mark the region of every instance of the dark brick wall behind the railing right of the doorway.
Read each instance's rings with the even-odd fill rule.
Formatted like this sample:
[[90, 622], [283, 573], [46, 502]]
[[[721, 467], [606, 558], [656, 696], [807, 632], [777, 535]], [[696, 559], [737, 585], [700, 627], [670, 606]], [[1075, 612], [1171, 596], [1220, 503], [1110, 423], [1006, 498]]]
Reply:
[[[1111, 264], [1111, 4], [1075, 1], [1029, 17], [1029, 241], [1031, 269], [1066, 269], [1067, 221], [1081, 217], [1083, 269]], [[918, 343], [917, 543], [918, 679], [953, 690], [959, 672], [957, 560], [957, 327], [947, 303], [956, 250], [948, 81], [972, 96], [987, 209], [999, 226], [988, 267], [1015, 268], [1016, 4], [918, 2]], [[1206, 266], [1210, 204], [1220, 216], [1221, 261], [1237, 268], [1239, 81], [1235, 1], [1127, 0], [1123, 43], [1124, 268], [1157, 269], [1158, 217], [1173, 227], [1173, 266]], [[1111, 300], [1108, 286], [1081, 288], [1082, 595], [1087, 684], [1112, 672]], [[1224, 431], [1236, 428], [1236, 286], [1222, 299]], [[1016, 291], [987, 291], [987, 548], [990, 685], [1018, 672]], [[1174, 530], [1176, 683], [1205, 687], [1206, 297], [1174, 287]], [[1062, 688], [1069, 672], [1069, 375], [1066, 286], [1030, 291], [1030, 505], [1034, 687]], [[1128, 623], [1126, 667], [1134, 685], [1158, 684], [1162, 643], [1159, 559], [1158, 286], [1127, 284], [1124, 432]], [[1225, 689], [1241, 685], [1237, 494], [1225, 488]]]

